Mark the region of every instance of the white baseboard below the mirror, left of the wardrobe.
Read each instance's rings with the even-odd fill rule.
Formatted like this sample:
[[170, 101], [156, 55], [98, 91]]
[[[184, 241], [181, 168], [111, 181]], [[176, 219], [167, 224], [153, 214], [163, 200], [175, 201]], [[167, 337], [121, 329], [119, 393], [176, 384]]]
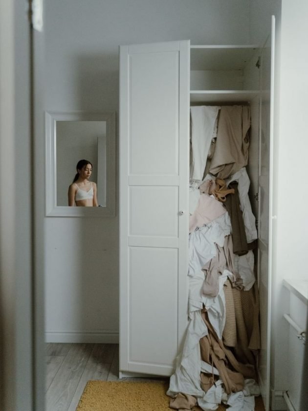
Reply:
[[119, 333], [46, 331], [45, 342], [118, 344]]

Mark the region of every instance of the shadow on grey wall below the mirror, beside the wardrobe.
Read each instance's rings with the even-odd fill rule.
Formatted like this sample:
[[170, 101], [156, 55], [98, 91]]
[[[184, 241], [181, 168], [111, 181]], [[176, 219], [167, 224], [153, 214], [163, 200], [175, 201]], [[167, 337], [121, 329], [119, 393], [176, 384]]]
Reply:
[[117, 233], [106, 234], [112, 226], [109, 218], [81, 220], [78, 248], [83, 252], [76, 281], [80, 296], [78, 328], [87, 335], [88, 342], [93, 342], [91, 336], [96, 342], [114, 342], [109, 338], [119, 331]]

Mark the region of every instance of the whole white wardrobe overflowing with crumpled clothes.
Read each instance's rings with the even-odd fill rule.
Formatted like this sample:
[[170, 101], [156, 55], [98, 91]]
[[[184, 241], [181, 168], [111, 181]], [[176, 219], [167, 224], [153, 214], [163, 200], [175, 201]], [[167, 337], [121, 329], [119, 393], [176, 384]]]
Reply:
[[[258, 380], [264, 398], [267, 395], [264, 261], [268, 232], [262, 220], [268, 204], [269, 55], [268, 50], [256, 45], [190, 46], [189, 42], [171, 42], [120, 47], [120, 377], [171, 376], [169, 395], [177, 401], [177, 394], [185, 393], [198, 399], [204, 410], [211, 402], [216, 409], [213, 404], [220, 403], [221, 396], [231, 405], [233, 400], [238, 401], [235, 397], [239, 392], [241, 401], [251, 401], [247, 407], [252, 407], [252, 398], [259, 392], [252, 379]], [[204, 115], [208, 119], [213, 110], [216, 117], [214, 114], [214, 121], [210, 120], [213, 130], [208, 147], [214, 147], [215, 154], [217, 145], [221, 145], [218, 138], [222, 124], [228, 128], [230, 119], [240, 116], [236, 121], [237, 126], [241, 123], [245, 145], [240, 147], [244, 154], [240, 154], [248, 160], [240, 161], [236, 167], [227, 164], [225, 173], [217, 171], [219, 167], [213, 173], [213, 158], [199, 156], [203, 163], [198, 165], [201, 171], [199, 168], [194, 178], [194, 161], [199, 161], [193, 155], [194, 126], [198, 121], [204, 125]], [[234, 145], [229, 142], [230, 147]], [[229, 154], [229, 150], [226, 152]], [[196, 153], [200, 154], [198, 148]], [[239, 193], [237, 213], [244, 214], [246, 248], [248, 244], [247, 250], [236, 256], [236, 275], [230, 265], [231, 273], [229, 269], [225, 272], [234, 256], [225, 247], [226, 239], [232, 237], [232, 228], [224, 200], [234, 196], [234, 192]], [[200, 209], [198, 216], [194, 215], [201, 196], [218, 204], [216, 220], [202, 223], [204, 215]], [[222, 220], [228, 229], [220, 224]], [[261, 223], [264, 236], [260, 242], [257, 229], [260, 231]], [[220, 249], [225, 259], [223, 263], [219, 259], [219, 269], [213, 266], [212, 274], [216, 274], [212, 279], [217, 281], [206, 284], [214, 254], [205, 251], [206, 256], [202, 257], [206, 247], [200, 246], [199, 234], [202, 228], [204, 231], [214, 226], [221, 238], [218, 246], [212, 246], [216, 251]], [[196, 249], [193, 243], [197, 244]], [[264, 278], [260, 265], [264, 265]], [[190, 275], [191, 270], [197, 274]], [[243, 270], [242, 276], [238, 275], [239, 270]], [[213, 286], [212, 295], [204, 297], [202, 290], [207, 286]], [[264, 307], [260, 314], [262, 347], [259, 293]], [[206, 309], [206, 301], [211, 298], [216, 304], [209, 304], [212, 311]], [[225, 311], [224, 319], [221, 309]], [[200, 341], [207, 335], [212, 341], [213, 335], [218, 334], [219, 340], [228, 340], [229, 346], [219, 346], [216, 341], [216, 356], [211, 356], [213, 346]], [[224, 352], [223, 359], [218, 359], [218, 351], [221, 355]], [[216, 361], [217, 365], [230, 361], [232, 365], [222, 370], [214, 366]], [[223, 382], [221, 373], [226, 377]], [[231, 374], [235, 376], [232, 382]], [[243, 374], [245, 381], [249, 380], [245, 388]], [[206, 397], [207, 391], [212, 397]], [[181, 403], [180, 399], [179, 408], [188, 405], [186, 400]]]

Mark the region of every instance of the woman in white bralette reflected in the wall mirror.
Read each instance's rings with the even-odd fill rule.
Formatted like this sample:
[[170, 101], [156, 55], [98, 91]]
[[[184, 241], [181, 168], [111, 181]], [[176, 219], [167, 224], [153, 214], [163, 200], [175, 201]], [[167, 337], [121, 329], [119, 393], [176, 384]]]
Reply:
[[88, 160], [79, 160], [76, 165], [77, 174], [68, 187], [68, 206], [97, 207], [96, 183], [90, 182], [92, 164]]

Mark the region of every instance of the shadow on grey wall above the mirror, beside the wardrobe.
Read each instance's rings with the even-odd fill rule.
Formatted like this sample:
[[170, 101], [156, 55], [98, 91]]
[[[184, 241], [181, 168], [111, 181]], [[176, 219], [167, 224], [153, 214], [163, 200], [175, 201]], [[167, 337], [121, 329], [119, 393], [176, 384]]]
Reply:
[[76, 110], [118, 111], [118, 53], [77, 56], [74, 75], [73, 93]]

